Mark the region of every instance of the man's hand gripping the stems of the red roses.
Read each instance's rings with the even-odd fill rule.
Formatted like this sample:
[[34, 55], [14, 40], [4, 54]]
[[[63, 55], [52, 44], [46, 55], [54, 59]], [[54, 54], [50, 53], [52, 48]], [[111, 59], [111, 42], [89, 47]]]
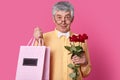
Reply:
[[80, 65], [85, 65], [87, 63], [85, 55], [82, 55], [81, 57], [74, 55], [72, 57], [72, 61], [74, 64], [80, 64]]

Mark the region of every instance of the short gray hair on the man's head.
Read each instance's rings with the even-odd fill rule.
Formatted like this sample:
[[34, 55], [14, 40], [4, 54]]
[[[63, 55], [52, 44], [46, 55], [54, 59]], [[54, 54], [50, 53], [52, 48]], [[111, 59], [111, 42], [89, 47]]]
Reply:
[[56, 11], [70, 11], [71, 12], [71, 17], [73, 18], [74, 16], [74, 8], [73, 6], [68, 2], [68, 1], [60, 1], [57, 2], [52, 9], [52, 14], [53, 16], [55, 15]]

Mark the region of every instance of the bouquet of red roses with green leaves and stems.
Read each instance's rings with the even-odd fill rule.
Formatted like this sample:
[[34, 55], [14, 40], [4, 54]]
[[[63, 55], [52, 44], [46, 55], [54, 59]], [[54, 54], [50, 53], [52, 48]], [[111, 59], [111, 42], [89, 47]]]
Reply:
[[[83, 53], [85, 53], [85, 51], [83, 50], [82, 46], [80, 45], [81, 43], [85, 43], [85, 40], [88, 39], [88, 36], [86, 34], [79, 34], [79, 35], [72, 35], [71, 37], [69, 37], [70, 40], [70, 46], [65, 46], [65, 48], [70, 51], [69, 54], [71, 54], [71, 58], [74, 55], [77, 55], [79, 57], [81, 57]], [[76, 45], [76, 43], [79, 43], [79, 45]], [[72, 80], [77, 80], [78, 76], [79, 76], [79, 71], [78, 68], [80, 68], [80, 64], [68, 64], [68, 67], [72, 69], [72, 73], [69, 74], [70, 78], [72, 78]]]

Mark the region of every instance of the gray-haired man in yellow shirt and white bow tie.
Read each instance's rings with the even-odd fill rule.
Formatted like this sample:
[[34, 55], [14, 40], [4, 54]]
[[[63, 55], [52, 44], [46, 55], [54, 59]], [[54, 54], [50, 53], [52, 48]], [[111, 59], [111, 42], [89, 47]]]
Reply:
[[[81, 64], [78, 80], [82, 80], [91, 71], [87, 43], [83, 45], [85, 55], [82, 58], [75, 55], [71, 59], [64, 48], [64, 46], [70, 45], [69, 37], [74, 34], [70, 31], [70, 25], [74, 19], [73, 6], [67, 1], [56, 3], [53, 6], [53, 18], [56, 25], [55, 30], [43, 35], [44, 45], [50, 47], [51, 50], [50, 80], [71, 80], [69, 77], [71, 69], [67, 67], [71, 62]], [[38, 31], [34, 33], [38, 33]], [[40, 36], [36, 34], [34, 37], [36, 38], [35, 45], [37, 45]]]

